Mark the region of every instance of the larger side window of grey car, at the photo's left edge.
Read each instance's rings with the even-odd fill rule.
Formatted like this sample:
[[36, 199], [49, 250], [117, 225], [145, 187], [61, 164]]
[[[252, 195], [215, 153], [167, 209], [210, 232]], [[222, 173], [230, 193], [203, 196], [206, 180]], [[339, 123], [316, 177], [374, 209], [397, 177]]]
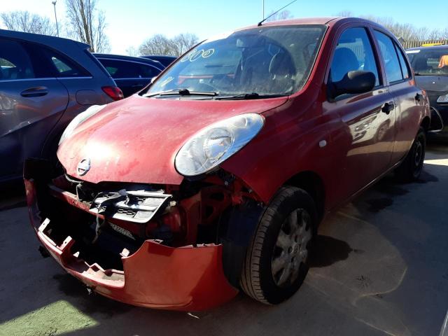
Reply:
[[29, 55], [16, 41], [0, 39], [0, 80], [34, 78]]

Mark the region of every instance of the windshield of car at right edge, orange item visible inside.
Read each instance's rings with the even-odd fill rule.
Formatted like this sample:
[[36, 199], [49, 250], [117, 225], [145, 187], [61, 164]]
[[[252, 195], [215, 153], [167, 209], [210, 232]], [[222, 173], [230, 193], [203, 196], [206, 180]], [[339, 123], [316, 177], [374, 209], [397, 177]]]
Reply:
[[406, 50], [416, 75], [448, 76], [448, 47]]

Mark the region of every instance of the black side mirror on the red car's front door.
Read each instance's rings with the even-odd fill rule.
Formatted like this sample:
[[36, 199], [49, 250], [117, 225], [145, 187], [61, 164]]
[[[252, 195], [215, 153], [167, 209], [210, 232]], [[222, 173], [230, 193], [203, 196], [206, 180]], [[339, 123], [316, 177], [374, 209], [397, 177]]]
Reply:
[[331, 97], [345, 93], [369, 92], [375, 86], [377, 78], [371, 71], [349, 71], [339, 82], [330, 83]]

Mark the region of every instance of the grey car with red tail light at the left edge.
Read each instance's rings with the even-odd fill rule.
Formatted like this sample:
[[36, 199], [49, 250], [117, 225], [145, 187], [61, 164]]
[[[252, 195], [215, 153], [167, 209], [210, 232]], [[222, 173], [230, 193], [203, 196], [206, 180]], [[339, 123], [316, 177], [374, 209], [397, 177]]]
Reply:
[[55, 158], [64, 128], [89, 106], [122, 99], [89, 45], [0, 29], [0, 185], [26, 158]]

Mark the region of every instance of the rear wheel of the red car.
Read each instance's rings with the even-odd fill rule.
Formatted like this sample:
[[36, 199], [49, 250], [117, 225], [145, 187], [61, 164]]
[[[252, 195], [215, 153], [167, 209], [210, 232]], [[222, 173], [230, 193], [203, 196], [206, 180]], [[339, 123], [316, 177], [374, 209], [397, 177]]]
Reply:
[[407, 153], [400, 167], [395, 169], [395, 176], [399, 181], [412, 182], [419, 179], [423, 170], [423, 161], [426, 153], [426, 132], [420, 127], [412, 147]]

